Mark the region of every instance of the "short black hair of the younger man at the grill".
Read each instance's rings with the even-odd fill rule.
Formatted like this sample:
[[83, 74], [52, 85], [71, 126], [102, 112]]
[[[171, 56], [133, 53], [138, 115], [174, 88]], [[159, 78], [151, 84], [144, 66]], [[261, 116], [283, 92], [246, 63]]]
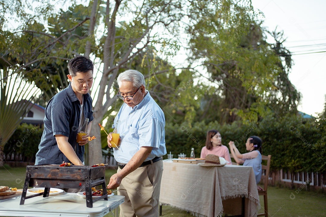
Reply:
[[76, 76], [77, 72], [88, 72], [90, 70], [93, 73], [94, 65], [92, 60], [87, 57], [78, 55], [68, 62], [68, 71], [72, 77]]

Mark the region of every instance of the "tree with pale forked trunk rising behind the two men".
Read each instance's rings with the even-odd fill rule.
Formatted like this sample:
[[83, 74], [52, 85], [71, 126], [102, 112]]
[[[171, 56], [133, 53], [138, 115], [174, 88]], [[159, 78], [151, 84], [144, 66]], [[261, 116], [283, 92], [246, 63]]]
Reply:
[[[23, 8], [22, 4], [19, 7]], [[58, 16], [49, 16], [47, 22], [44, 22], [49, 24], [50, 27], [47, 28], [35, 21], [23, 19], [24, 25], [20, 31], [14, 33], [19, 40], [18, 43], [14, 50], [11, 47], [7, 49], [11, 56], [3, 59], [16, 58], [17, 61], [11, 66], [14, 64], [24, 66], [20, 71], [29, 75], [29, 79], [38, 77], [36, 81], [38, 87], [42, 89], [44, 96], [50, 98], [66, 85], [60, 82], [64, 78], [61, 75], [66, 68], [65, 61], [72, 55], [80, 53], [93, 58], [95, 65], [102, 69], [95, 75], [95, 82], [98, 85], [92, 92], [96, 100], [93, 129], [90, 134], [100, 137], [96, 125], [102, 121], [103, 115], [116, 101], [114, 92], [117, 89], [115, 78], [118, 72], [131, 68], [134, 59], [149, 46], [155, 47], [156, 53], [167, 53], [165, 47], [169, 49], [177, 47], [175, 40], [177, 37], [173, 35], [178, 32], [177, 23], [182, 17], [181, 8], [181, 3], [176, 0], [137, 2], [116, 0], [104, 4], [95, 0], [90, 1], [86, 7], [72, 4], [68, 11], [60, 11]], [[26, 14], [18, 16], [28, 17]], [[85, 28], [78, 34], [77, 30], [80, 27]], [[159, 28], [162, 28], [164, 34], [158, 34]], [[102, 36], [98, 37], [99, 35]], [[53, 71], [56, 71], [55, 75], [51, 75]], [[147, 74], [144, 69], [140, 71]], [[48, 93], [50, 91], [52, 93]], [[93, 140], [90, 145], [89, 163], [102, 161], [100, 141]]]

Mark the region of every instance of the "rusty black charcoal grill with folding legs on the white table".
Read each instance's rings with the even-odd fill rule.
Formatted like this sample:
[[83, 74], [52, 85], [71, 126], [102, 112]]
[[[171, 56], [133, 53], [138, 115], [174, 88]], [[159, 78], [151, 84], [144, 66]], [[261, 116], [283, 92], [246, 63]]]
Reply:
[[[92, 187], [102, 185], [103, 196], [92, 197]], [[44, 192], [26, 196], [28, 187], [44, 187]], [[43, 195], [49, 197], [50, 188], [79, 188], [85, 187], [86, 205], [92, 208], [93, 202], [103, 199], [108, 200], [105, 185], [105, 167], [68, 166], [60, 167], [56, 164], [45, 164], [26, 167], [26, 179], [22, 191], [20, 205], [25, 199]]]

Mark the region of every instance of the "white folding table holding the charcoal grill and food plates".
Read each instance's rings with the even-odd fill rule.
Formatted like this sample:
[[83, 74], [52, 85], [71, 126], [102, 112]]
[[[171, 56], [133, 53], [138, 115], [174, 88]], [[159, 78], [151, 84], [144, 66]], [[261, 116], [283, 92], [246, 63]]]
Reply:
[[115, 209], [125, 196], [112, 195], [108, 200], [97, 200], [92, 208], [86, 206], [86, 198], [75, 193], [60, 193], [49, 197], [29, 198], [20, 205], [21, 196], [0, 200], [0, 216], [33, 216], [33, 217], [102, 217]]

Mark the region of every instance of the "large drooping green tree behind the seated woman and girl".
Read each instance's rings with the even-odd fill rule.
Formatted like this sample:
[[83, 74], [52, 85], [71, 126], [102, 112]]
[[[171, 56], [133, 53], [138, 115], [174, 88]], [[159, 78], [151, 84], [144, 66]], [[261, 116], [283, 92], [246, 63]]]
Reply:
[[[280, 35], [275, 37], [277, 46], [266, 42], [267, 31], [257, 20], [251, 2], [193, 3], [196, 22], [188, 30], [191, 60], [201, 60], [212, 83], [200, 117], [220, 123], [258, 121], [275, 108], [280, 115], [284, 110], [296, 111], [300, 96], [288, 79], [290, 54], [279, 43]], [[289, 60], [286, 67], [281, 57]]]

